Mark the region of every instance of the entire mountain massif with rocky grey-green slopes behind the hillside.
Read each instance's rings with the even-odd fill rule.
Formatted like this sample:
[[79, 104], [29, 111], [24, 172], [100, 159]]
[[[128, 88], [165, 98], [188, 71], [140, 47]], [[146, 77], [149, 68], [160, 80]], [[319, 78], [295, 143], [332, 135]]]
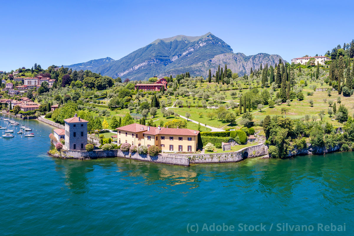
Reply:
[[228, 44], [209, 32], [202, 36], [177, 35], [156, 39], [116, 61], [107, 57], [67, 67], [76, 70], [89, 69], [113, 78], [144, 80], [153, 76], [176, 76], [186, 71], [193, 76], [205, 77], [209, 69], [215, 73], [217, 66], [224, 66], [225, 63], [233, 72], [243, 75], [249, 73], [251, 67], [259, 68], [261, 63], [274, 66], [279, 58], [279, 55], [266, 53], [253, 56], [233, 53]]

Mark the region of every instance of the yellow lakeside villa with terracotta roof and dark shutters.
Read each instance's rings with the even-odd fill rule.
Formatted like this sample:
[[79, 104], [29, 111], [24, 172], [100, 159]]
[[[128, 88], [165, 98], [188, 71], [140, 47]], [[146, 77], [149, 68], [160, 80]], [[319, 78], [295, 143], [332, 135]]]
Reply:
[[156, 145], [162, 151], [196, 151], [198, 147], [198, 130], [150, 127], [137, 123], [116, 129], [118, 144]]

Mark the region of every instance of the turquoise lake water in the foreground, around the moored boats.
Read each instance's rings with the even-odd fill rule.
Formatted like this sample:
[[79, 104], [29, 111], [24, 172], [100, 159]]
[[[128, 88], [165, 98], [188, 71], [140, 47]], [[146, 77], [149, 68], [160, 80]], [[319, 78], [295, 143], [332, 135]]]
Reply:
[[[0, 139], [0, 235], [353, 235], [353, 152], [191, 167], [62, 160], [46, 154], [52, 126], [21, 122], [35, 137]], [[331, 223], [346, 231], [318, 231]]]

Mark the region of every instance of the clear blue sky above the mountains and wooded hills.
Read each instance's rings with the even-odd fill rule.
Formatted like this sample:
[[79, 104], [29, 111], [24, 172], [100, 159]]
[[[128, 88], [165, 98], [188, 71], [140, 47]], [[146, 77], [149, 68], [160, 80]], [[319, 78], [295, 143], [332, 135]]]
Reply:
[[[218, 2], [218, 3], [217, 3]], [[285, 60], [354, 38], [353, 1], [4, 1], [0, 70], [119, 59], [158, 38], [213, 33]]]

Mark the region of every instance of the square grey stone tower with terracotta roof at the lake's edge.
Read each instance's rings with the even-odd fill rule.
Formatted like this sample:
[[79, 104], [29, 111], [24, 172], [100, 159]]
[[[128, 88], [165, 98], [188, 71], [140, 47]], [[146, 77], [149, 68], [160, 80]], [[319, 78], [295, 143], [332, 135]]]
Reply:
[[75, 114], [74, 117], [65, 119], [65, 149], [85, 150], [87, 144], [87, 123]]

